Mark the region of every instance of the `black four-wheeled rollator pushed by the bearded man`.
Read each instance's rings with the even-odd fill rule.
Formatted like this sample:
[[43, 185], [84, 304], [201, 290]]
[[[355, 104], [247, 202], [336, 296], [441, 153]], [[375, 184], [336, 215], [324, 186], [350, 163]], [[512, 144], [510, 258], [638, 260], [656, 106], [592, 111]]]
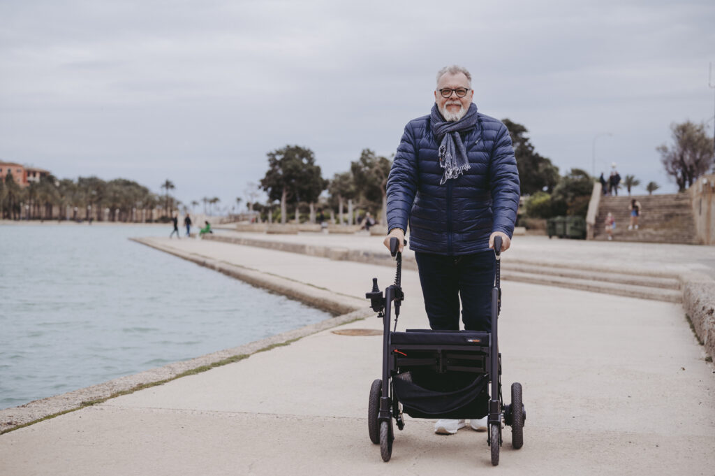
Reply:
[[[501, 393], [498, 317], [501, 311], [502, 239], [499, 236], [494, 239], [491, 332], [430, 329], [398, 332], [400, 304], [405, 299], [400, 283], [402, 253], [398, 251], [398, 245], [397, 238], [390, 238], [390, 254], [397, 261], [395, 283], [385, 288], [383, 297], [378, 278], [373, 278], [372, 291], [365, 294], [378, 318], [383, 319], [382, 379], [375, 380], [370, 387], [368, 404], [370, 440], [380, 445], [380, 454], [387, 462], [395, 439], [393, 419], [398, 429], [403, 429], [403, 410], [415, 418], [473, 419], [487, 416], [491, 462], [498, 465], [502, 422], [511, 426], [512, 445], [518, 449], [523, 445], [526, 420], [521, 384], [512, 384], [511, 404], [503, 404]], [[395, 329], [390, 331], [393, 306]], [[487, 388], [490, 389], [488, 401]]]

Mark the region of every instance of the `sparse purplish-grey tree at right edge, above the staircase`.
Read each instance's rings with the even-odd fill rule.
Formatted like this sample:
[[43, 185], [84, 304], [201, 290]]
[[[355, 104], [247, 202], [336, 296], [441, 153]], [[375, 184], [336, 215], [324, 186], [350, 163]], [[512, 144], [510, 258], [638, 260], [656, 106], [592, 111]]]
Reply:
[[695, 183], [713, 165], [713, 140], [704, 124], [686, 121], [671, 124], [673, 143], [656, 147], [666, 173], [671, 175], [681, 192]]

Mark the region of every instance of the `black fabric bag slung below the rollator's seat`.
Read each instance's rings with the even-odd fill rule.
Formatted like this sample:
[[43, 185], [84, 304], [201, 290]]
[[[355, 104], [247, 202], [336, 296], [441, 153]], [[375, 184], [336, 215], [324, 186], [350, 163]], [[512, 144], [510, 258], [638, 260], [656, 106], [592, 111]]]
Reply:
[[[474, 378], [474, 375], [471, 376]], [[488, 379], [480, 374], [466, 387], [451, 392], [425, 389], [411, 375], [393, 379], [393, 389], [403, 412], [413, 418], [483, 418], [489, 413]]]

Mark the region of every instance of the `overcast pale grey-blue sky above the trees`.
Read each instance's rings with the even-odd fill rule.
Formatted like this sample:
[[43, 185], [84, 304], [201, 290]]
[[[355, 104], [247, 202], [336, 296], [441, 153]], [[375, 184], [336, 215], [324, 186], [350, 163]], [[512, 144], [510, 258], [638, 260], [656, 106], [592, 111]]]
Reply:
[[596, 174], [671, 192], [655, 148], [713, 129], [714, 25], [709, 0], [1, 0], [0, 160], [233, 204], [287, 144], [325, 178], [390, 155], [457, 63], [561, 173], [595, 144]]

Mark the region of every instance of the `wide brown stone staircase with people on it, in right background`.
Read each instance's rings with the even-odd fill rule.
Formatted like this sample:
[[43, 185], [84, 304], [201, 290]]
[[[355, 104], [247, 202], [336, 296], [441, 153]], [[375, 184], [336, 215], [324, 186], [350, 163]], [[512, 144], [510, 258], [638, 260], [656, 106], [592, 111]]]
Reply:
[[[635, 198], [641, 203], [638, 230], [628, 230], [631, 211], [628, 205]], [[606, 240], [606, 215], [616, 218], [614, 241], [645, 241], [649, 243], [683, 243], [696, 245], [695, 222], [690, 196], [687, 193], [671, 195], [633, 195], [601, 197], [598, 206], [594, 240]]]

